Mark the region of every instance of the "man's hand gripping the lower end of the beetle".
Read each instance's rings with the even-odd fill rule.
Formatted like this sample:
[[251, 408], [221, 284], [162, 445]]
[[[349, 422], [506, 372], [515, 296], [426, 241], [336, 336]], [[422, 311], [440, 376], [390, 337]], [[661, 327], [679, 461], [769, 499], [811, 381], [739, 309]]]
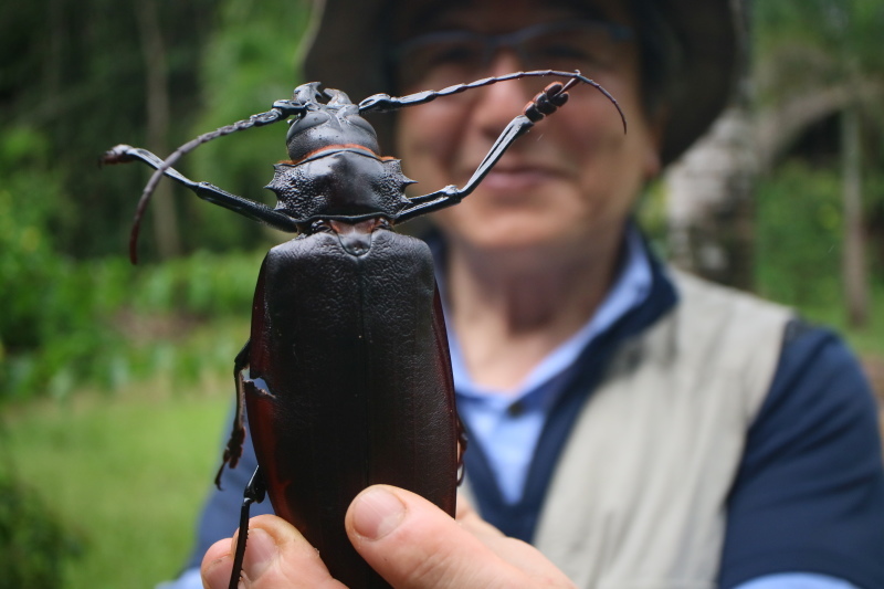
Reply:
[[[397, 589], [573, 587], [537, 549], [507, 538], [462, 499], [454, 520], [413, 493], [376, 485], [354, 499], [345, 526], [356, 550]], [[218, 541], [206, 554], [208, 589], [228, 587], [234, 543]], [[246, 546], [242, 585], [249, 589], [344, 589], [313, 546], [278, 517], [253, 518]]]

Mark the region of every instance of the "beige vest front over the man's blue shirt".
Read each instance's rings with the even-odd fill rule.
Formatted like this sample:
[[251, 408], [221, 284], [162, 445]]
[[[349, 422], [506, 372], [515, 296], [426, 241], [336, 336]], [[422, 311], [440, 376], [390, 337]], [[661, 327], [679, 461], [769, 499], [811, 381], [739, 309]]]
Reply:
[[673, 273], [676, 308], [627, 341], [575, 423], [535, 545], [580, 588], [712, 588], [725, 503], [788, 309]]

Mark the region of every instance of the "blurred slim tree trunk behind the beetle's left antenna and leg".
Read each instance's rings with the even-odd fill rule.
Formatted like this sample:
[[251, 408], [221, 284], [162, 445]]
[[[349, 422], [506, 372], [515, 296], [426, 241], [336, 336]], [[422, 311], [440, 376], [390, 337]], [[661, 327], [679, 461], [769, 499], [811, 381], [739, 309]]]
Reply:
[[[169, 72], [156, 0], [136, 2], [136, 18], [147, 74], [147, 148], [164, 157], [169, 152]], [[180, 255], [181, 239], [171, 183], [160, 182], [154, 193], [154, 239], [160, 257]]]

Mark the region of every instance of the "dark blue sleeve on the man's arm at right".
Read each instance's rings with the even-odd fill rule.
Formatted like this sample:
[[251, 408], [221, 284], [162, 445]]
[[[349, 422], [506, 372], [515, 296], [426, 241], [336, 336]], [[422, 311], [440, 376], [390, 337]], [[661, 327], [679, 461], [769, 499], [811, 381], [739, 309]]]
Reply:
[[884, 588], [884, 466], [859, 362], [819, 328], [787, 329], [727, 506], [719, 587], [817, 572]]

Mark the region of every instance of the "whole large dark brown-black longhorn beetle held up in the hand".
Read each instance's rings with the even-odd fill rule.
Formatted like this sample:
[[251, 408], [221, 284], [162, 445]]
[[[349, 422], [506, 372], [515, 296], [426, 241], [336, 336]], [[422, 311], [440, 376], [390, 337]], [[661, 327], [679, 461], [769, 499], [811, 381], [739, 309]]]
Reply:
[[[379, 155], [367, 112], [392, 112], [498, 82], [559, 76], [513, 118], [465, 186], [409, 198], [400, 161]], [[350, 102], [319, 83], [292, 99], [185, 144], [166, 160], [118, 145], [107, 164], [140, 160], [156, 169], [138, 203], [129, 253], [136, 257], [144, 211], [165, 175], [199, 198], [275, 229], [297, 233], [264, 259], [252, 307], [251, 338], [234, 359], [236, 411], [215, 484], [236, 465], [248, 410], [259, 467], [244, 494], [230, 587], [245, 550], [249, 506], [265, 493], [348, 587], [388, 587], [350, 545], [344, 514], [376, 483], [401, 486], [454, 514], [465, 437], [454, 408], [451, 365], [429, 248], [392, 225], [450, 207], [469, 196], [515, 139], [568, 98], [582, 82], [617, 101], [580, 72], [516, 72], [402, 97], [376, 94]], [[323, 102], [323, 98], [326, 98]], [[291, 118], [291, 120], [290, 120]], [[217, 137], [290, 120], [290, 160], [275, 165], [266, 188], [271, 209], [171, 166]], [[248, 376], [245, 375], [248, 370]]]

